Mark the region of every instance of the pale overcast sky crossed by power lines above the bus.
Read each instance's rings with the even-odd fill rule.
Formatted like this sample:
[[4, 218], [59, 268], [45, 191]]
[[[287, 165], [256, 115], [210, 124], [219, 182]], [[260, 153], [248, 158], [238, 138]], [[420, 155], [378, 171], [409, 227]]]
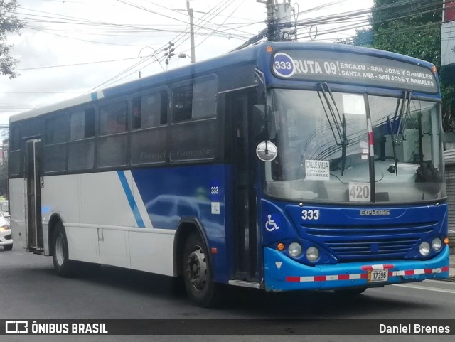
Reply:
[[[278, 0], [282, 3], [284, 0]], [[191, 63], [186, 0], [18, 0], [21, 35], [9, 34], [20, 75], [0, 76], [0, 128], [12, 114]], [[299, 41], [348, 38], [367, 26], [373, 0], [292, 0]], [[256, 0], [191, 0], [196, 62], [228, 53], [265, 28]], [[327, 21], [332, 21], [328, 23]], [[343, 31], [341, 31], [343, 30]], [[164, 48], [173, 42], [166, 65]], [[183, 53], [185, 58], [178, 58]], [[7, 131], [1, 131], [1, 138]]]

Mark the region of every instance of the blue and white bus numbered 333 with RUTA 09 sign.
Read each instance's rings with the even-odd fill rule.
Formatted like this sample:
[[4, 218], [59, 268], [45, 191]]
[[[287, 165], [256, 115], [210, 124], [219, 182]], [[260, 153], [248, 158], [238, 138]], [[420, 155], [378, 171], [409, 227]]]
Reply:
[[259, 43], [11, 117], [14, 240], [82, 262], [271, 292], [449, 276], [431, 63]]

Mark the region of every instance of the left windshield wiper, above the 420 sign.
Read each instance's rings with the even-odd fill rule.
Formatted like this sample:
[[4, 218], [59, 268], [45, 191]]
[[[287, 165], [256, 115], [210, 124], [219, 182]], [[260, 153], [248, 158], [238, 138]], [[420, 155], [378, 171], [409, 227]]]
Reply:
[[[333, 97], [332, 91], [330, 87], [328, 87], [327, 82], [319, 82], [319, 85], [321, 86], [322, 95], [326, 102], [328, 112], [330, 112], [330, 117], [329, 113], [327, 112], [326, 106], [324, 105], [324, 102], [322, 100], [321, 94], [318, 91], [319, 100], [321, 100], [321, 105], [324, 109], [324, 112], [326, 113], [326, 118], [332, 131], [333, 138], [335, 139], [335, 143], [337, 146], [341, 146], [341, 176], [343, 176], [344, 169], [346, 166], [346, 146], [348, 146], [349, 144], [348, 137], [346, 136], [346, 117], [345, 114], [343, 113], [343, 118], [341, 118], [340, 111], [336, 106], [335, 98]], [[330, 96], [330, 98], [327, 95], [327, 93]], [[333, 126], [331, 119], [333, 121]], [[335, 129], [333, 129], [333, 127], [335, 127]]]

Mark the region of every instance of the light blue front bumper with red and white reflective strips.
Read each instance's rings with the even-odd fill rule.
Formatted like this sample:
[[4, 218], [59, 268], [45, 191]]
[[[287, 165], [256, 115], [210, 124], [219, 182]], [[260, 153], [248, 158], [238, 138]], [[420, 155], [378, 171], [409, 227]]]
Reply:
[[[264, 282], [267, 291], [380, 287], [388, 284], [449, 278], [449, 246], [431, 260], [388, 260], [306, 266], [282, 252], [264, 248]], [[368, 269], [387, 269], [387, 282], [368, 282]]]

